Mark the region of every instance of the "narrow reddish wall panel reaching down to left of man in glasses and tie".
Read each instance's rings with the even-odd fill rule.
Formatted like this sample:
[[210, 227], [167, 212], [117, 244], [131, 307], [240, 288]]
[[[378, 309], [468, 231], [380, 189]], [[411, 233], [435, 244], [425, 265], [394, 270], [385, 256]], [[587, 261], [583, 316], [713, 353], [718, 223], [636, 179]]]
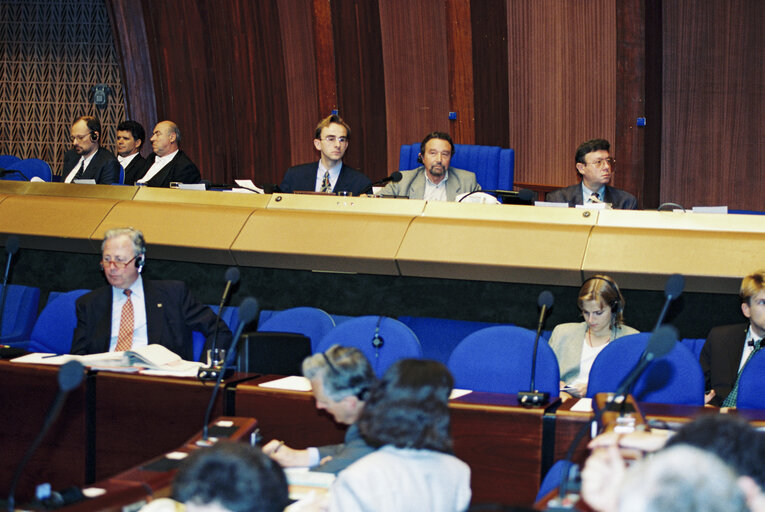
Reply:
[[[316, 159], [313, 131], [320, 119], [311, 0], [277, 0], [289, 109], [290, 165]], [[334, 81], [334, 80], [333, 80]], [[277, 178], [275, 183], [281, 179]]]

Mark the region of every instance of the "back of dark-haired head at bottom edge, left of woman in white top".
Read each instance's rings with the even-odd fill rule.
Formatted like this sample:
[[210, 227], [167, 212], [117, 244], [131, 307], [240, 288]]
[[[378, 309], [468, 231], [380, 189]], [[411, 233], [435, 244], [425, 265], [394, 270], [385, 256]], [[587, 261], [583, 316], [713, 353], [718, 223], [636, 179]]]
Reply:
[[226, 441], [183, 461], [173, 497], [187, 512], [281, 512], [290, 503], [279, 464], [258, 448]]

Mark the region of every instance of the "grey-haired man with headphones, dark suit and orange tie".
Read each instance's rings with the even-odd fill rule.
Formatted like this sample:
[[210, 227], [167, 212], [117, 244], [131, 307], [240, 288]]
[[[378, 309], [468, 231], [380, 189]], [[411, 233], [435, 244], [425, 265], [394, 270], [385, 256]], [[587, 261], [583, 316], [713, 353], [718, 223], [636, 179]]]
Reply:
[[[206, 348], [212, 344], [215, 313], [197, 302], [181, 281], [143, 279], [145, 255], [146, 243], [140, 231], [117, 228], [104, 234], [101, 268], [110, 286], [77, 299], [72, 354], [123, 351], [158, 343], [190, 361], [192, 331], [205, 335]], [[231, 338], [231, 331], [219, 321], [217, 344], [228, 346]]]

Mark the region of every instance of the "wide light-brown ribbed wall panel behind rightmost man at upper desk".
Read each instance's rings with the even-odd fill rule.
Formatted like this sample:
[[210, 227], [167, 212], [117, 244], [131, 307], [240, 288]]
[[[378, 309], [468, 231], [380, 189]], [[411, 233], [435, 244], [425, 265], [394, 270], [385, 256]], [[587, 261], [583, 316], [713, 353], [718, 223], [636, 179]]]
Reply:
[[614, 141], [615, 2], [507, 0], [507, 25], [515, 181], [575, 183], [577, 146]]

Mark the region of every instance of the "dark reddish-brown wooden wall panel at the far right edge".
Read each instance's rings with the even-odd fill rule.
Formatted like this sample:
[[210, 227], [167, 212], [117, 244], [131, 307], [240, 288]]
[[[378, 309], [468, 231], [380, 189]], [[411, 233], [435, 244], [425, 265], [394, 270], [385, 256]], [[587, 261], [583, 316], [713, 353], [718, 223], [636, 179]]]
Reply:
[[765, 210], [765, 3], [663, 3], [662, 201]]

